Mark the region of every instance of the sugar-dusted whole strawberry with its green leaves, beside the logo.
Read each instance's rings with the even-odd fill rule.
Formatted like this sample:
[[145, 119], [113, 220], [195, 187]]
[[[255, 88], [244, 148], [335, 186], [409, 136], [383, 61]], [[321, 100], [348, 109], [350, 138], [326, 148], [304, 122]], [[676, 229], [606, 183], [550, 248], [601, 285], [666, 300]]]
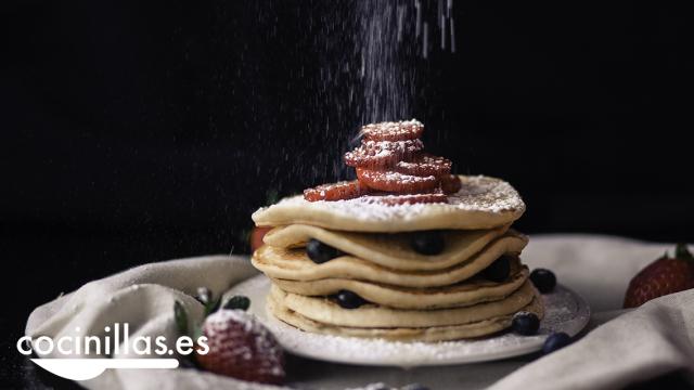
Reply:
[[[211, 299], [208, 289], [198, 289], [205, 318], [196, 326], [194, 339], [205, 337], [195, 351], [197, 367], [236, 379], [280, 385], [284, 381], [284, 352], [272, 334], [245, 310], [250, 300], [234, 296], [223, 304]], [[188, 335], [188, 318], [180, 302], [174, 306], [176, 324]]]

